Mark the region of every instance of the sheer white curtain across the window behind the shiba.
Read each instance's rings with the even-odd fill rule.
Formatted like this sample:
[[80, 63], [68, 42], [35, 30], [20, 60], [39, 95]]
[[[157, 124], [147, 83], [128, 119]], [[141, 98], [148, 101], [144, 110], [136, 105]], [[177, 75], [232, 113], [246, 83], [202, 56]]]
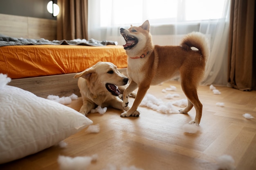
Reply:
[[202, 84], [227, 85], [230, 0], [88, 0], [88, 38], [124, 40], [120, 28], [150, 22], [153, 43], [179, 45], [192, 31], [209, 39], [211, 54]]

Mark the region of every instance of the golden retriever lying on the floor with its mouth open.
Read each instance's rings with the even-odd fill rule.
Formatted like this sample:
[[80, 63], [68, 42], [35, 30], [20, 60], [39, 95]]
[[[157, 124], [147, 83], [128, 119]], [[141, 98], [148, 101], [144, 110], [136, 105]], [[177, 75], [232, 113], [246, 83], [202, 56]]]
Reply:
[[[123, 101], [119, 98], [128, 83], [128, 78], [122, 75], [117, 66], [111, 62], [98, 62], [94, 66], [77, 73], [78, 86], [83, 99], [80, 113], [87, 115], [97, 106], [123, 110]], [[133, 97], [136, 93], [131, 94]], [[126, 108], [128, 110], [128, 108]]]

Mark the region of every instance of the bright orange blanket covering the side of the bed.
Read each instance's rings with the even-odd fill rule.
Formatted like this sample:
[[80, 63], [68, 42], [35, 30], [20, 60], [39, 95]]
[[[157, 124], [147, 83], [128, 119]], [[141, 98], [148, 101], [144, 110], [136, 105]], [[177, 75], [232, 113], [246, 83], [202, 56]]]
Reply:
[[0, 73], [12, 79], [78, 73], [97, 62], [127, 67], [123, 46], [21, 45], [0, 47]]

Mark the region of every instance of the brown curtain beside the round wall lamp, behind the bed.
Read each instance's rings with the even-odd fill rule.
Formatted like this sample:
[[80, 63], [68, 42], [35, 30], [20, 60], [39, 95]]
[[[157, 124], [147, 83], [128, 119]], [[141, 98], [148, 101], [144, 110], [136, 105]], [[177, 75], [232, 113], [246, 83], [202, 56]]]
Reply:
[[87, 40], [87, 0], [58, 0], [57, 3], [60, 7], [57, 16], [57, 40]]

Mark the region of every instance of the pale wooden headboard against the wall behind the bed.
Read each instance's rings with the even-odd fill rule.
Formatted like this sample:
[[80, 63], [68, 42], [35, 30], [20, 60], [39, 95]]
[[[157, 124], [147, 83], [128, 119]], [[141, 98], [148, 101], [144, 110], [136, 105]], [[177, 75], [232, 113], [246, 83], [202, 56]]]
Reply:
[[56, 20], [0, 13], [0, 34], [16, 38], [56, 40]]

